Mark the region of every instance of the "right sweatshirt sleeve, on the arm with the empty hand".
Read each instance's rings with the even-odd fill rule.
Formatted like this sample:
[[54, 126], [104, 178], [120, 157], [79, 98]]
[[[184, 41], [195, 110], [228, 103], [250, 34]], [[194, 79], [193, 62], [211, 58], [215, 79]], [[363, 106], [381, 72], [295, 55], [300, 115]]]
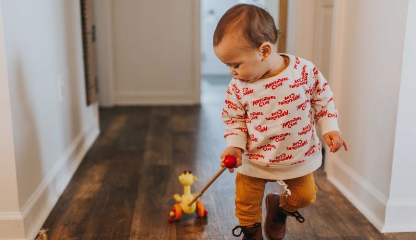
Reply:
[[338, 128], [338, 111], [335, 107], [333, 93], [324, 75], [312, 65], [310, 89], [311, 106], [315, 109], [314, 121], [321, 129], [322, 135], [330, 131], [340, 131]]

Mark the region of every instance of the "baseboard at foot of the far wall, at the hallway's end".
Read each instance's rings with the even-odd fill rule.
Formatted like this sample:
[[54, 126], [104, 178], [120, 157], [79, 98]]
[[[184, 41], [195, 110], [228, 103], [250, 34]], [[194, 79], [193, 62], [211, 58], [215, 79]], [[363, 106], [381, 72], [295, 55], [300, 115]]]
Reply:
[[193, 92], [185, 91], [132, 91], [118, 92], [116, 105], [196, 105], [199, 100]]

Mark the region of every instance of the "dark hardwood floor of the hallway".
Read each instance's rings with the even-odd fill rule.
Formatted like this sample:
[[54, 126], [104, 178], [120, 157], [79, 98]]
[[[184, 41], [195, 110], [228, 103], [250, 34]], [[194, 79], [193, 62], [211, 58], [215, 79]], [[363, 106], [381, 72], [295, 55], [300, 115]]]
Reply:
[[[193, 214], [174, 223], [167, 220], [172, 196], [183, 193], [181, 173], [192, 171], [199, 178], [191, 187], [198, 192], [219, 170], [225, 86], [203, 86], [201, 107], [101, 109], [101, 134], [44, 223], [49, 239], [236, 239], [231, 234], [238, 223], [235, 173], [224, 172], [201, 197], [207, 218]], [[322, 169], [315, 178], [317, 201], [300, 210], [304, 223], [288, 219], [285, 239], [416, 240], [416, 233], [380, 234]], [[268, 183], [266, 191], [281, 189]]]

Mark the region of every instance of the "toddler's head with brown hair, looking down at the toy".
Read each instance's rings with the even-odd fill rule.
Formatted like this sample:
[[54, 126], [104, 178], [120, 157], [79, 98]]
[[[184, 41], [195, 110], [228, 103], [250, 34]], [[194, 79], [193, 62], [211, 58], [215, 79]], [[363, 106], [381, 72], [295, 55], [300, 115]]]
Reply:
[[258, 80], [270, 69], [277, 29], [273, 17], [257, 6], [237, 4], [220, 19], [214, 32], [214, 52], [235, 79]]

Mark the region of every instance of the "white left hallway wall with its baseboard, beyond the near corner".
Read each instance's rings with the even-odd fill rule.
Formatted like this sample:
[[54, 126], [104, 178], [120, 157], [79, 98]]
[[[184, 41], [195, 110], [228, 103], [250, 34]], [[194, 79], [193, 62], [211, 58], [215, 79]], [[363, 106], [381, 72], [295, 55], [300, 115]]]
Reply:
[[98, 113], [86, 106], [79, 1], [1, 5], [19, 196], [18, 213], [1, 211], [33, 239], [99, 133]]

